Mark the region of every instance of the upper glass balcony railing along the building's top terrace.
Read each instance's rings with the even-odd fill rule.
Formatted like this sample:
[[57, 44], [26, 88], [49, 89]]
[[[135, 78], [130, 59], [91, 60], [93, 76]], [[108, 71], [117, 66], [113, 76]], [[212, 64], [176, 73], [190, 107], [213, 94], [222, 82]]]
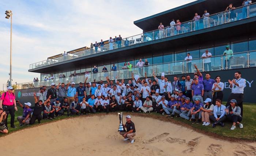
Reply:
[[125, 37], [122, 40], [114, 41], [113, 43], [98, 45], [97, 47], [86, 49], [83, 51], [68, 53], [66, 56], [56, 57], [54, 59], [48, 59], [37, 63], [30, 64], [29, 69], [35, 69], [44, 67], [47, 65], [63, 62], [66, 60], [72, 60], [83, 56], [89, 56], [96, 53], [103, 53], [109, 50], [127, 47], [134, 44], [144, 43], [152, 40], [158, 40], [165, 37], [180, 35], [192, 31], [215, 27], [230, 22], [234, 22], [241, 19], [246, 19], [256, 16], [256, 3], [238, 7], [230, 11], [223, 11], [215, 13], [208, 17], [202, 17], [199, 20], [191, 20], [175, 25], [173, 27], [165, 27], [163, 31], [154, 30], [145, 32], [139, 35]]

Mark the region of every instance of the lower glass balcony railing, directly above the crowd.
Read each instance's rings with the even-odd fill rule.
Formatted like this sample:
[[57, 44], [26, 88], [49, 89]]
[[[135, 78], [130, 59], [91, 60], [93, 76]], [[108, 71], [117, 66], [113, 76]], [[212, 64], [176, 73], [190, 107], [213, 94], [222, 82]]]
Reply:
[[94, 80], [96, 82], [100, 80], [106, 81], [106, 77], [108, 77], [110, 80], [131, 79], [132, 73], [134, 75], [139, 75], [140, 77], [145, 77], [146, 75], [148, 77], [151, 77], [153, 76], [153, 72], [156, 76], [161, 76], [162, 72], [164, 72], [165, 75], [187, 74], [196, 72], [195, 67], [193, 67], [194, 64], [197, 65], [197, 68], [201, 72], [256, 67], [256, 51], [234, 53], [233, 55], [212, 56], [210, 60], [210, 64], [206, 63], [205, 59], [199, 58], [193, 59], [191, 62], [175, 61], [162, 64], [153, 64], [143, 67], [133, 67], [130, 69], [120, 69], [117, 71], [85, 73], [84, 75], [72, 77], [20, 83], [17, 84], [17, 87], [18, 89], [27, 89], [42, 87], [44, 85], [50, 86], [52, 83], [55, 83], [57, 85], [59, 83], [67, 84], [69, 82], [75, 82], [76, 84], [78, 84], [79, 82], [84, 82], [86, 77], [88, 77], [87, 82], [93, 82]]

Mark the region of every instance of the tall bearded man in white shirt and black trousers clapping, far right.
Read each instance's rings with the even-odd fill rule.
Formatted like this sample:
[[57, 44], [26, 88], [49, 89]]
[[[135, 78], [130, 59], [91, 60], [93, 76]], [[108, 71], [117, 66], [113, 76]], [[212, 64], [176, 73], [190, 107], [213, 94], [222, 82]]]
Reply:
[[231, 89], [231, 94], [227, 101], [226, 107], [230, 105], [230, 100], [237, 100], [237, 105], [241, 108], [241, 116], [243, 116], [243, 98], [244, 98], [244, 88], [246, 87], [246, 80], [242, 79], [241, 72], [235, 72], [235, 79], [229, 80], [229, 88]]

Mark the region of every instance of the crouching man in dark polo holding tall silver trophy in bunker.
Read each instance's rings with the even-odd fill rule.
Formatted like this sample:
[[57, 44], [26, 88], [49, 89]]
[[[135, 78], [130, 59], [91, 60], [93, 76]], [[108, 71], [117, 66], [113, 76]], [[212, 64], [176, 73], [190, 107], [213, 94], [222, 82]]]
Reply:
[[[134, 123], [131, 121], [131, 116], [126, 116], [127, 122], [125, 124], [123, 124], [123, 112], [118, 113], [118, 116], [120, 120], [120, 125], [118, 129], [120, 135], [124, 137], [124, 141], [131, 140], [131, 143], [134, 143], [133, 137], [136, 135], [136, 130]], [[127, 131], [125, 131], [124, 128], [127, 128]]]

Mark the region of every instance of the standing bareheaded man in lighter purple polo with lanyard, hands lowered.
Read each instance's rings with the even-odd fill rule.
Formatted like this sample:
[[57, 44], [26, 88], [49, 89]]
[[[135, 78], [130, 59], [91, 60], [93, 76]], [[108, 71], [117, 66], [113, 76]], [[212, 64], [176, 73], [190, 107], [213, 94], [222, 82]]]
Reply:
[[203, 96], [204, 96], [204, 86], [199, 83], [199, 80], [197, 78], [194, 78], [194, 84], [192, 85], [192, 99], [195, 101], [195, 98], [198, 97], [201, 102], [203, 102]]

